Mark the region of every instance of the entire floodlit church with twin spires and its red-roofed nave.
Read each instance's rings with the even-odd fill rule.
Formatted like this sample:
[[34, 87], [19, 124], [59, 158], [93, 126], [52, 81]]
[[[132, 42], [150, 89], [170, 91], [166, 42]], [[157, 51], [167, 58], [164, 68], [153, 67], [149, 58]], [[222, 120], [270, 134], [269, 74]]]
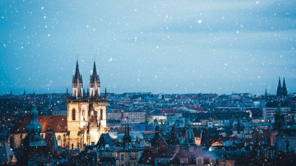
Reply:
[[[84, 148], [84, 145], [96, 144], [102, 133], [108, 133], [110, 128], [106, 122], [107, 92], [100, 93], [100, 78], [94, 62], [92, 74], [89, 77], [87, 93], [83, 89], [82, 75], [76, 62], [75, 74], [72, 79], [72, 96], [66, 92], [67, 115], [43, 115], [37, 120], [42, 126], [40, 135], [55, 132], [59, 147], [72, 149]], [[21, 141], [27, 132], [25, 127], [30, 122], [30, 116], [20, 117], [8, 135], [7, 142], [11, 148], [21, 146]]]

